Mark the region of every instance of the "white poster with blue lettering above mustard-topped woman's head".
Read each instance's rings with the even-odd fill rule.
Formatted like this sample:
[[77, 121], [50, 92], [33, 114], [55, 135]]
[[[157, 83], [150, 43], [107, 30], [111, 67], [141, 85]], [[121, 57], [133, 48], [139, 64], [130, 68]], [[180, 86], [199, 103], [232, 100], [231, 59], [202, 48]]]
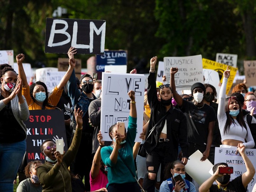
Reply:
[[49, 71], [46, 73], [46, 81], [44, 82], [47, 86], [47, 90], [51, 92], [66, 74], [66, 71]]

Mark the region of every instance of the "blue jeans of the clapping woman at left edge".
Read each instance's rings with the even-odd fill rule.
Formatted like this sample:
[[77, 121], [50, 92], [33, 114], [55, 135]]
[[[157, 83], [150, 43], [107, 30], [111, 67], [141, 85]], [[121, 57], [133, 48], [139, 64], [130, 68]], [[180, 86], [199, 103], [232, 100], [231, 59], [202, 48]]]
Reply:
[[26, 152], [26, 140], [16, 143], [0, 143], [0, 191], [12, 192], [22, 158]]

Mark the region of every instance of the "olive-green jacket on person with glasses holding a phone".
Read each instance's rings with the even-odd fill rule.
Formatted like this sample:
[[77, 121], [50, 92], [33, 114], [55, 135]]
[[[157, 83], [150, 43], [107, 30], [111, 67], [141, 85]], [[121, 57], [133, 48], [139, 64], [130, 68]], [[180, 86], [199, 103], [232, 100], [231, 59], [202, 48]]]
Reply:
[[62, 165], [44, 162], [37, 169], [37, 175], [43, 186], [43, 192], [72, 192], [71, 178], [68, 167], [74, 160], [81, 141], [81, 130], [76, 130], [68, 151], [63, 156]]

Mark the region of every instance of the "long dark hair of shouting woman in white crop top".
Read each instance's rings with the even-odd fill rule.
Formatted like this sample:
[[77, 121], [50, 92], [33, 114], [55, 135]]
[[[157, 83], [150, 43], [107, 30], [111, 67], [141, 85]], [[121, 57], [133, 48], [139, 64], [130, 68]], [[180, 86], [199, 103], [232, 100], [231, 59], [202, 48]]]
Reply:
[[[238, 121], [238, 123], [242, 127], [242, 129], [245, 128], [246, 132], [247, 132], [247, 127], [246, 127], [246, 124], [245, 124], [245, 121], [244, 121], [244, 118], [243, 118], [243, 115], [242, 115], [241, 103], [238, 101], [238, 99], [236, 97], [231, 96], [229, 98], [226, 98], [226, 100], [225, 100], [225, 113], [226, 113], [226, 116], [227, 116], [227, 120], [226, 120], [226, 123], [225, 123], [223, 134], [228, 133], [230, 125], [232, 123], [235, 123], [235, 119], [229, 114], [229, 102], [230, 102], [231, 99], [234, 99], [238, 102], [239, 114], [238, 114], [238, 116], [236, 116], [236, 120]], [[247, 133], [246, 133], [246, 135], [247, 135]]]

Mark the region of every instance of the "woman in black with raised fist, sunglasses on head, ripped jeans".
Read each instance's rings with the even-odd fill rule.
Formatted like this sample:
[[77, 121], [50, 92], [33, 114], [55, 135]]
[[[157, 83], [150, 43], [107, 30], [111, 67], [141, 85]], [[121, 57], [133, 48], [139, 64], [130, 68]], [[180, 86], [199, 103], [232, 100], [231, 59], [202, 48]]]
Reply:
[[[156, 94], [155, 65], [157, 57], [150, 59], [148, 77], [148, 102], [151, 109], [149, 126], [146, 130], [146, 166], [148, 173], [143, 180], [143, 188], [148, 192], [155, 191], [155, 180], [161, 164], [161, 181], [164, 167], [170, 161], [177, 160], [178, 144], [182, 149], [182, 161], [188, 160], [187, 123], [185, 115], [172, 106], [172, 89], [169, 84], [159, 86], [159, 97]], [[159, 101], [160, 100], [160, 101]], [[153, 127], [155, 127], [153, 129]]]

